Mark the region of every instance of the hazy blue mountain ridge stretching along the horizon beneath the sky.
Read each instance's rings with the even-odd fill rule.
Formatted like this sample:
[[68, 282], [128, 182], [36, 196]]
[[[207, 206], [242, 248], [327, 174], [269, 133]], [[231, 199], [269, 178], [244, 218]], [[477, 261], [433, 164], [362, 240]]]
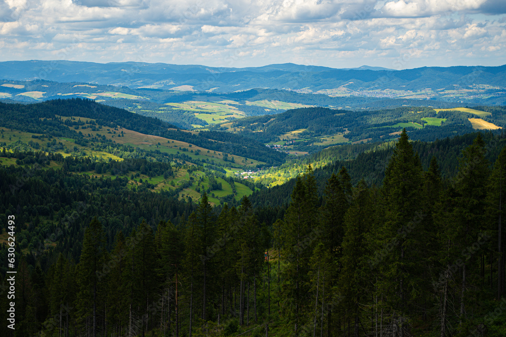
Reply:
[[392, 70], [371, 66], [336, 69], [292, 63], [230, 68], [137, 62], [8, 61], [0, 62], [0, 79], [45, 79], [133, 89], [218, 93], [269, 88], [333, 97], [354, 95], [506, 104], [506, 65]]

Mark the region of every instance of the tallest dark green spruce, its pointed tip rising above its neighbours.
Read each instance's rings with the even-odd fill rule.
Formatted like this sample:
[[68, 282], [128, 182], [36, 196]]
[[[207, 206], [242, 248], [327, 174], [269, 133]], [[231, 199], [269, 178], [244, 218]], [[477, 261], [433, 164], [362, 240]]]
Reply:
[[[396, 143], [385, 171], [382, 187], [385, 222], [377, 233], [377, 267], [381, 273], [378, 290], [394, 316], [392, 333], [408, 332], [408, 320], [413, 301], [419, 295], [409, 291], [420, 288], [419, 258], [423, 252], [423, 232], [420, 220], [423, 170], [404, 129]], [[379, 254], [378, 254], [379, 253]]]

